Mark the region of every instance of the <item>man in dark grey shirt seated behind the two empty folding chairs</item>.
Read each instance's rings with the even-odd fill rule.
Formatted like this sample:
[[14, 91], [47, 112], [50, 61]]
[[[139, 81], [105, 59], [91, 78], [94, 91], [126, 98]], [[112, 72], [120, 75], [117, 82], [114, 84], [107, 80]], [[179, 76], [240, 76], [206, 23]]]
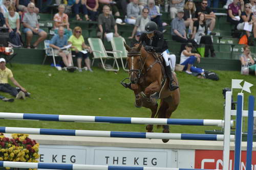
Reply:
[[99, 15], [98, 17], [98, 28], [99, 32], [97, 33], [97, 37], [102, 38], [103, 29], [104, 29], [104, 37], [106, 36], [106, 33], [111, 32], [111, 28], [114, 27], [115, 30], [115, 37], [119, 37], [116, 21], [114, 19], [114, 16], [110, 14], [110, 7], [105, 5], [103, 7], [103, 13]]

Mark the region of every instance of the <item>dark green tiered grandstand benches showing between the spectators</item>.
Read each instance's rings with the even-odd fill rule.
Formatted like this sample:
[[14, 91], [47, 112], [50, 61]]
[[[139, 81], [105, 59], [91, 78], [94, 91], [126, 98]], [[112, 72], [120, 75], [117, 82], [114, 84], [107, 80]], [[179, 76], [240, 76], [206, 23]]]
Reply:
[[[194, 1], [201, 2], [201, 1]], [[217, 15], [217, 22], [214, 32], [217, 33], [216, 36], [212, 36], [215, 47], [215, 58], [203, 58], [200, 63], [200, 67], [206, 69], [215, 69], [215, 70], [240, 70], [240, 61], [239, 55], [242, 53], [242, 45], [238, 44], [238, 38], [232, 38], [231, 36], [231, 25], [226, 21], [226, 9], [223, 9], [221, 1], [219, 3], [219, 8], [214, 8], [217, 13], [222, 13]], [[39, 13], [38, 21], [40, 28], [48, 33], [47, 39], [51, 39], [51, 29], [53, 27], [53, 15], [57, 12], [56, 6], [51, 6], [49, 13]], [[161, 9], [164, 9], [162, 7]], [[167, 38], [169, 51], [177, 56], [177, 63], [179, 62], [179, 50], [180, 43], [173, 41], [172, 36], [170, 35], [170, 16], [168, 12], [162, 13], [162, 21], [166, 22], [168, 25], [164, 27], [166, 32], [164, 33], [165, 38]], [[124, 14], [120, 11], [121, 16], [118, 18], [124, 19]], [[77, 21], [75, 16], [71, 14], [70, 19], [70, 28], [73, 29], [75, 26], [80, 26], [82, 28], [82, 35], [85, 39], [89, 37], [96, 37], [97, 22], [95, 21]], [[118, 25], [119, 35], [125, 38], [126, 43], [130, 44], [131, 39], [128, 39], [132, 35], [133, 25], [125, 24]], [[25, 34], [22, 34], [22, 38], [25, 41]], [[32, 42], [36, 40], [38, 36], [34, 35]], [[87, 41], [87, 40], [86, 40]], [[88, 42], [87, 42], [88, 43]], [[106, 50], [111, 51], [111, 43], [104, 42]], [[250, 47], [252, 54], [256, 53], [256, 47]], [[15, 53], [17, 56], [12, 60], [13, 62], [18, 63], [30, 63], [30, 64], [41, 64], [42, 60], [45, 57], [44, 43], [40, 43], [38, 48], [35, 49], [26, 49], [26, 48], [15, 48]], [[254, 56], [253, 56], [254, 57]], [[46, 63], [50, 64], [51, 58], [48, 58]], [[76, 63], [76, 62], [75, 62]]]

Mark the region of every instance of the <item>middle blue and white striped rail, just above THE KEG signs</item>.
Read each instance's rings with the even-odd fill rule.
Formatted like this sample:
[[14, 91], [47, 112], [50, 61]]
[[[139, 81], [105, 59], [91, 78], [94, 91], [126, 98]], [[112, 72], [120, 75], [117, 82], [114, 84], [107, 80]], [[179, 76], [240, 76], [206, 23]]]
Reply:
[[[0, 132], [27, 133], [27, 134], [40, 134], [40, 135], [121, 137], [121, 138], [147, 138], [147, 139], [219, 140], [219, 141], [224, 140], [224, 135], [215, 135], [215, 134], [118, 132], [118, 131], [94, 131], [94, 130], [16, 128], [16, 127], [0, 127]], [[234, 141], [234, 135], [230, 135], [230, 140]]]

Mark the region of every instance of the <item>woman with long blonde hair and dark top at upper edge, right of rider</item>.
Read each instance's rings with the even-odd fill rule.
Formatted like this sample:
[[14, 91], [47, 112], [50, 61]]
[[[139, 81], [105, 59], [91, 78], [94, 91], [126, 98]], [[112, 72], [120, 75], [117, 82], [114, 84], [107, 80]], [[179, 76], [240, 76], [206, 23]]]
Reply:
[[193, 24], [196, 18], [196, 6], [193, 1], [186, 2], [184, 6], [184, 17], [185, 26], [188, 27], [188, 34], [193, 34]]

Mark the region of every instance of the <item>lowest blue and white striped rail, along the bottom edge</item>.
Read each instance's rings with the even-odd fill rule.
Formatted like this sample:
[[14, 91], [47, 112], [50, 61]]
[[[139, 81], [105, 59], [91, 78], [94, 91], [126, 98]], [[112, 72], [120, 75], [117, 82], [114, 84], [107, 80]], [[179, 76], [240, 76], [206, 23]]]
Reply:
[[[168, 167], [133, 167], [133, 166], [108, 166], [108, 165], [83, 165], [83, 164], [57, 164], [57, 163], [32, 163], [0, 161], [0, 167], [40, 168], [40, 169], [65, 169], [65, 170], [212, 170], [212, 169], [187, 169]], [[215, 169], [216, 170], [216, 169]]]

